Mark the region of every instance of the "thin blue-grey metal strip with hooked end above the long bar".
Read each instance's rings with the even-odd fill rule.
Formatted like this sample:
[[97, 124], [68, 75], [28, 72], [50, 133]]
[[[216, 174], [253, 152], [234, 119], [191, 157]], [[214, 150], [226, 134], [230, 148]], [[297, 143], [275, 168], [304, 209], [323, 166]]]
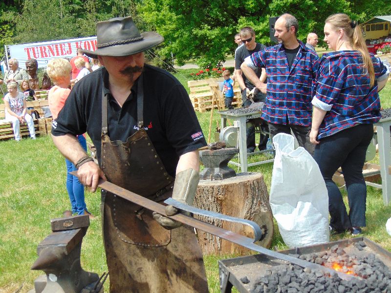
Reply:
[[223, 221], [228, 221], [228, 222], [234, 222], [234, 223], [247, 225], [247, 226], [251, 227], [254, 230], [253, 242], [260, 240], [261, 237], [262, 237], [262, 231], [261, 231], [260, 226], [258, 226], [257, 223], [255, 223], [253, 221], [240, 219], [240, 218], [237, 218], [237, 217], [223, 215], [223, 214], [220, 214], [220, 213], [215, 212], [215, 211], [210, 211], [210, 210], [205, 210], [205, 209], [198, 209], [198, 208], [195, 208], [195, 207], [183, 204], [181, 202], [178, 202], [177, 200], [174, 200], [171, 197], [166, 199], [164, 201], [164, 203], [167, 204], [167, 205], [172, 205], [172, 206], [174, 206], [177, 209], [181, 209], [183, 211], [194, 213], [196, 215], [201, 215], [201, 216], [211, 217], [211, 218], [219, 219], [219, 220], [223, 220]]

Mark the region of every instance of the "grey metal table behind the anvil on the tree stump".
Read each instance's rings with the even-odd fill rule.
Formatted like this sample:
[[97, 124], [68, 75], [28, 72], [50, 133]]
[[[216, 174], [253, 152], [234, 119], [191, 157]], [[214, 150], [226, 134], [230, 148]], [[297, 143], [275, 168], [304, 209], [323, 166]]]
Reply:
[[[262, 103], [263, 104], [263, 103]], [[246, 137], [246, 120], [247, 119], [255, 119], [255, 118], [261, 118], [262, 111], [259, 109], [255, 109], [254, 111], [251, 111], [250, 108], [246, 108], [249, 110], [249, 112], [246, 113], [229, 113], [237, 109], [233, 110], [225, 110], [225, 111], [219, 111], [217, 113], [221, 116], [221, 129], [227, 126], [227, 119], [234, 120], [234, 126], [237, 126], [239, 128], [239, 163], [230, 161], [232, 165], [238, 166], [241, 169], [241, 172], [247, 172], [247, 167], [251, 166], [257, 166], [261, 164], [266, 164], [273, 162], [274, 159], [270, 160], [264, 160], [259, 161], [255, 163], [248, 164], [247, 163], [247, 156], [248, 155], [255, 155], [265, 152], [271, 152], [270, 149], [266, 150], [260, 150], [253, 152], [251, 154], [247, 154], [247, 137]]]

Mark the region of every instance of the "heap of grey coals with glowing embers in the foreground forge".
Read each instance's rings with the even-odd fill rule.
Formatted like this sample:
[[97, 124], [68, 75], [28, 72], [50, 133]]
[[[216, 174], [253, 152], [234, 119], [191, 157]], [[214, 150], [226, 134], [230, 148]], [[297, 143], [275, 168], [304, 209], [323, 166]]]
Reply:
[[[329, 292], [329, 293], [391, 293], [391, 271], [374, 253], [360, 253], [367, 245], [360, 241], [343, 248], [338, 245], [329, 251], [309, 254], [289, 254], [336, 271], [356, 276], [342, 280], [337, 274], [324, 273], [296, 265], [282, 265], [278, 272], [266, 271], [256, 280], [253, 293], [269, 292]], [[348, 251], [348, 252], [347, 252]]]

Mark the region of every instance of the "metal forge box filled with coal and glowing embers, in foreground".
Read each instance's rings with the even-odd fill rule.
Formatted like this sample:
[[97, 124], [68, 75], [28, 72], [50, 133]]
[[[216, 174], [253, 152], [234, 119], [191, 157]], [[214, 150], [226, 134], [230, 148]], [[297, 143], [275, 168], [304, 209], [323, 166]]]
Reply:
[[[391, 252], [367, 238], [344, 239], [279, 252], [351, 273], [354, 279], [345, 281], [336, 275], [324, 276], [322, 272], [311, 272], [308, 268], [303, 269], [281, 259], [254, 254], [218, 261], [221, 293], [232, 292], [232, 287], [240, 293], [391, 293]], [[371, 267], [372, 263], [375, 268]], [[318, 279], [311, 281], [308, 278], [310, 275]], [[277, 283], [271, 287], [275, 280]], [[315, 284], [318, 281], [320, 284]], [[303, 283], [304, 287], [300, 287]]]

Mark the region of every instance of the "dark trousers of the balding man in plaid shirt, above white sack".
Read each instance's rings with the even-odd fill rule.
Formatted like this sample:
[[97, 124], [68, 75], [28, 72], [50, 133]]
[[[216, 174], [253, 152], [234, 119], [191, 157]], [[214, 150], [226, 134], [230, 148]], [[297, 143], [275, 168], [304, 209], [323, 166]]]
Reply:
[[303, 146], [311, 155], [313, 155], [315, 146], [309, 141], [309, 131], [311, 130], [311, 126], [293, 125], [288, 122], [286, 125], [269, 123], [270, 139], [272, 141], [273, 136], [276, 134], [291, 134], [291, 130], [299, 142], [299, 146]]

